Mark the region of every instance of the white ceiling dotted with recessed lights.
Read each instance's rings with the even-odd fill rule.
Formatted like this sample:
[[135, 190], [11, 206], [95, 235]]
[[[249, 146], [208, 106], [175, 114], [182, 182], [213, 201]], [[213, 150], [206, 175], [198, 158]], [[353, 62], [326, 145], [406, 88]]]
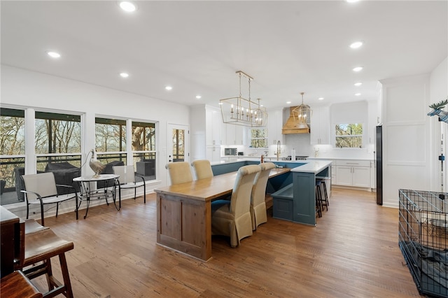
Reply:
[[[118, 1], [2, 0], [1, 64], [214, 106], [238, 95], [241, 70], [251, 99], [274, 108], [300, 92], [311, 106], [377, 99], [378, 80], [429, 73], [448, 56], [446, 0], [134, 3], [125, 13]], [[241, 89], [247, 97], [246, 80]]]

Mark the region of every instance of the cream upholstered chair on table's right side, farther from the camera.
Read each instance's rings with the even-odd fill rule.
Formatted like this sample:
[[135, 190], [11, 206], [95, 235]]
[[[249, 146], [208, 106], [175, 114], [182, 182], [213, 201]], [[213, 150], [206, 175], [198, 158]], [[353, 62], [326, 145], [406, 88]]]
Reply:
[[273, 162], [263, 162], [260, 164], [260, 173], [255, 176], [251, 193], [251, 218], [252, 229], [255, 231], [259, 225], [267, 222], [266, 215], [266, 185], [269, 172], [275, 168]]

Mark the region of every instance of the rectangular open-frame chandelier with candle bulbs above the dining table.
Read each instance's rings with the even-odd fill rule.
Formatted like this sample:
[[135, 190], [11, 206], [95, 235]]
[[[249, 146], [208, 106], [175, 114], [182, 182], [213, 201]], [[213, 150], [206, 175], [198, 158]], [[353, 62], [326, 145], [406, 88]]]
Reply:
[[[237, 71], [239, 75], [239, 95], [228, 99], [220, 99], [221, 115], [223, 122], [233, 125], [248, 127], [265, 127], [267, 125], [267, 112], [258, 102], [251, 101], [251, 80], [253, 78], [243, 71]], [[241, 77], [248, 80], [248, 99], [241, 95]]]

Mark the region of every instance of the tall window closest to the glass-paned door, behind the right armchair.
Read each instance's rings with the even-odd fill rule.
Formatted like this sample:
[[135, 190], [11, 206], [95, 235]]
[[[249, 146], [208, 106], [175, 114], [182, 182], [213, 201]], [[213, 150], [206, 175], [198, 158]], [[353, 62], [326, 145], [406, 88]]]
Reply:
[[132, 122], [134, 169], [145, 180], [155, 179], [155, 123]]

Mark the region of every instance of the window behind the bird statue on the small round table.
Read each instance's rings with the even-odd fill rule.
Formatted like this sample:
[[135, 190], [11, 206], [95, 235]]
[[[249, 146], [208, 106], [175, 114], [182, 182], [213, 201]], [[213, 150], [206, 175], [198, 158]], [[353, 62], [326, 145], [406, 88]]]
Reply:
[[95, 118], [95, 150], [102, 164], [122, 161], [126, 164], [126, 121]]

